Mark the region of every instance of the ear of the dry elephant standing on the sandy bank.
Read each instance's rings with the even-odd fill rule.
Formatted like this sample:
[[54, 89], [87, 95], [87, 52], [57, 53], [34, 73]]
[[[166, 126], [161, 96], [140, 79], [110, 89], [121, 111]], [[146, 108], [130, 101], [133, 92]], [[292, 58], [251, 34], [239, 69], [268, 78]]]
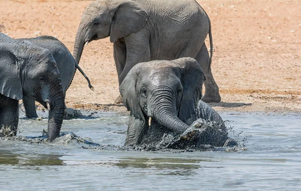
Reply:
[[111, 23], [111, 43], [142, 29], [147, 18], [147, 13], [136, 2], [125, 1], [119, 4]]

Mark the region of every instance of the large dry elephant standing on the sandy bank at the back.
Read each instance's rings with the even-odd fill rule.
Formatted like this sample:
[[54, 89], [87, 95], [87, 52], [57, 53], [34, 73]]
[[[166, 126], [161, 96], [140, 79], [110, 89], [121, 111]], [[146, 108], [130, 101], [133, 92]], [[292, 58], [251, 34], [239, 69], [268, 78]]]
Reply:
[[[209, 33], [211, 55], [205, 44]], [[79, 63], [84, 45], [110, 37], [119, 85], [139, 62], [195, 58], [207, 78], [205, 102], [220, 102], [211, 73], [210, 20], [195, 0], [98, 0], [84, 11], [73, 56]], [[120, 101], [117, 98], [115, 103]]]

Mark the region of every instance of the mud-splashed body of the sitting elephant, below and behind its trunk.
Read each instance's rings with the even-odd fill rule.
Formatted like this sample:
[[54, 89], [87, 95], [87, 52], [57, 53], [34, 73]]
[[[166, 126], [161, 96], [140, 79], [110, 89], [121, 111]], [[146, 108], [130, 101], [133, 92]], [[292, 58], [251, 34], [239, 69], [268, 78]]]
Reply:
[[[152, 122], [142, 136], [140, 145], [157, 148], [186, 149], [208, 144], [211, 146], [236, 145], [228, 137], [228, 132], [221, 116], [209, 105], [199, 100], [196, 115], [185, 122], [189, 127], [185, 132], [177, 133], [157, 121]], [[231, 144], [227, 141], [231, 140]]]

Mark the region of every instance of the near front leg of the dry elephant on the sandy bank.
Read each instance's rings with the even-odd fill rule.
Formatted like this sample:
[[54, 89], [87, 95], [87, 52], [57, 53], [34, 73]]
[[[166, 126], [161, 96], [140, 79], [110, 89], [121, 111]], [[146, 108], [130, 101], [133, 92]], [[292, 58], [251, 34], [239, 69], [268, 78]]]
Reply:
[[126, 44], [126, 62], [121, 74], [118, 76], [119, 86], [133, 66], [140, 62], [150, 61], [148, 37], [129, 35], [124, 40]]

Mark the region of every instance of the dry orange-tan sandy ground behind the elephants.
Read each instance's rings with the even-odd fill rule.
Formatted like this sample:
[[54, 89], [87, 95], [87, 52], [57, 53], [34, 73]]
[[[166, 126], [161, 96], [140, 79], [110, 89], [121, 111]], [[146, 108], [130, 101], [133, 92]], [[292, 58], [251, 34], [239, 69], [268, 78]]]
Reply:
[[[301, 112], [301, 1], [198, 1], [212, 23], [216, 110]], [[81, 14], [91, 1], [0, 1], [0, 24], [12, 38], [51, 35], [73, 51]], [[208, 38], [207, 38], [207, 45]], [[68, 107], [125, 111], [109, 39], [89, 43], [67, 91]]]

